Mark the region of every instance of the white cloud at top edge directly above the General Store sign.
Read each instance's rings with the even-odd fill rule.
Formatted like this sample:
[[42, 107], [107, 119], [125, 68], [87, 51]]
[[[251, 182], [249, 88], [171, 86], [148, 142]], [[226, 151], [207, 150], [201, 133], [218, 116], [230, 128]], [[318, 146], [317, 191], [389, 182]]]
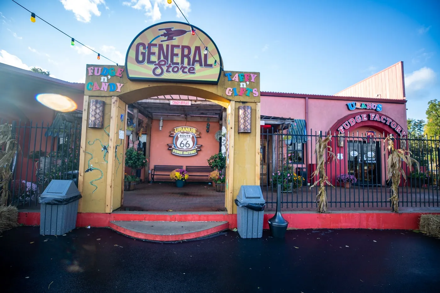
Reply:
[[[154, 3], [154, 5], [152, 3]], [[152, 21], [161, 19], [161, 8], [167, 9], [173, 6], [176, 8], [176, 16], [178, 18], [183, 17], [174, 2], [172, 2], [172, 4], [168, 4], [167, 0], [131, 0], [122, 2], [122, 4], [137, 10], [144, 10], [145, 15], [149, 16], [151, 18], [150, 20]], [[187, 16], [187, 14], [191, 11], [191, 4], [188, 0], [176, 0], [176, 4], [180, 7], [180, 10], [182, 10], [185, 16]]]

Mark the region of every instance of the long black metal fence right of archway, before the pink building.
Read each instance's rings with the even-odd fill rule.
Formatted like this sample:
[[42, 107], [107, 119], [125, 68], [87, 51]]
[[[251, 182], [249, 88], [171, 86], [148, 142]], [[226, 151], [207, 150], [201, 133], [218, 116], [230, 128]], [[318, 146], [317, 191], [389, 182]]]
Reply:
[[[260, 185], [268, 208], [275, 208], [276, 187], [282, 185], [282, 208], [316, 209], [319, 186], [310, 188], [318, 178], [312, 174], [318, 159], [315, 146], [326, 132], [292, 135], [290, 129], [261, 128]], [[390, 209], [390, 184], [387, 176], [386, 135], [365, 130], [362, 133], [332, 134], [331, 147], [324, 156], [328, 207], [331, 210]], [[401, 207], [439, 207], [440, 142], [425, 136], [392, 138], [397, 148], [411, 151], [420, 169], [403, 162], [407, 179], [399, 186]]]

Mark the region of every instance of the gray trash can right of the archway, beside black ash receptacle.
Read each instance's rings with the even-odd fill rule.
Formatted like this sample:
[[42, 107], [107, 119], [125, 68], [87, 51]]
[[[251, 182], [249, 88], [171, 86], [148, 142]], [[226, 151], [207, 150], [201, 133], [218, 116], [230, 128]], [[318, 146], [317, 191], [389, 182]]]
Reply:
[[242, 238], [263, 236], [264, 201], [261, 188], [243, 185], [235, 199], [237, 205], [237, 230]]

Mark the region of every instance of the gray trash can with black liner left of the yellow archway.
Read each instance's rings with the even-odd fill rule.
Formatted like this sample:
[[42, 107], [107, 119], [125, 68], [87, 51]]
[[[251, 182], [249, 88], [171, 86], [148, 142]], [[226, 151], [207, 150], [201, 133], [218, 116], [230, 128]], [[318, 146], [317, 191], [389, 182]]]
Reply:
[[80, 198], [72, 180], [52, 180], [40, 196], [40, 234], [62, 235], [73, 230]]

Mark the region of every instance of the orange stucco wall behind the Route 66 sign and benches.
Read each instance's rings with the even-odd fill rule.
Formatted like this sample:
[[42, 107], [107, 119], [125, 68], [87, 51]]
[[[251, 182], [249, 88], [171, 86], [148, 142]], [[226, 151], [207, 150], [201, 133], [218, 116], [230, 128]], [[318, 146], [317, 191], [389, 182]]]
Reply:
[[[219, 143], [214, 138], [217, 130], [220, 129], [218, 122], [209, 122], [209, 133], [206, 133], [206, 122], [195, 121], [172, 121], [164, 120], [163, 128], [159, 130], [159, 120], [153, 120], [151, 125], [151, 143], [150, 143], [150, 168], [154, 168], [154, 165], [183, 165], [186, 166], [207, 166], [208, 158], [213, 154], [219, 152]], [[201, 150], [198, 154], [191, 157], [180, 157], [171, 154], [171, 150], [168, 150], [167, 143], [172, 143], [172, 137], [169, 136], [169, 132], [177, 126], [191, 126], [197, 128], [200, 132], [200, 137], [197, 139], [197, 144], [201, 144]], [[207, 178], [207, 177], [206, 177]], [[157, 176], [155, 180], [169, 179], [165, 176]], [[204, 177], [193, 177], [190, 179], [203, 180]]]

